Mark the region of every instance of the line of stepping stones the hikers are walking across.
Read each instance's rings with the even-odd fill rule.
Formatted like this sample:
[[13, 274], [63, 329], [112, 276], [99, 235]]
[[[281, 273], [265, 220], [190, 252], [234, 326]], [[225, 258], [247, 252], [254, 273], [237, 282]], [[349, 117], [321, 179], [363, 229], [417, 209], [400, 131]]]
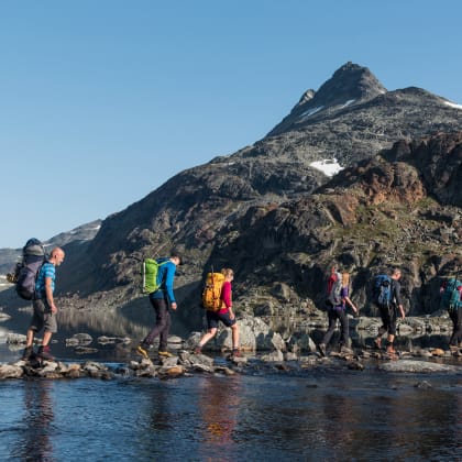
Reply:
[[[398, 361], [399, 360], [399, 361]], [[446, 361], [446, 362], [443, 362]], [[387, 365], [387, 363], [397, 363]], [[299, 372], [314, 369], [348, 369], [363, 371], [367, 367], [378, 367], [391, 372], [411, 373], [462, 373], [462, 349], [444, 352], [439, 349], [421, 350], [419, 353], [400, 352], [389, 355], [384, 351], [342, 348], [339, 352], [331, 351], [327, 356], [314, 352], [307, 355], [284, 353], [275, 350], [260, 358], [244, 355], [239, 358], [212, 359], [205, 354], [194, 354], [180, 350], [177, 355], [158, 358], [154, 361], [142, 359], [128, 364], [103, 364], [94, 361], [84, 363], [65, 363], [62, 361], [18, 361], [13, 364], [0, 364], [0, 380], [7, 378], [113, 378], [157, 377], [160, 380], [190, 376], [193, 374], [220, 374], [230, 376], [235, 373], [275, 373]]]

